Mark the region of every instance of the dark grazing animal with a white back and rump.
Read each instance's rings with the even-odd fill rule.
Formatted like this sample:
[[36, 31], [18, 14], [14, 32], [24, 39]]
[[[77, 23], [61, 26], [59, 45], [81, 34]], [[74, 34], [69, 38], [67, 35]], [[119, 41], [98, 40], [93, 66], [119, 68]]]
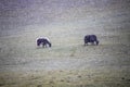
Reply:
[[39, 47], [41, 45], [42, 45], [43, 48], [47, 47], [47, 46], [49, 46], [49, 47], [52, 46], [49, 38], [47, 38], [47, 37], [40, 37], [40, 38], [37, 39], [37, 46]]

